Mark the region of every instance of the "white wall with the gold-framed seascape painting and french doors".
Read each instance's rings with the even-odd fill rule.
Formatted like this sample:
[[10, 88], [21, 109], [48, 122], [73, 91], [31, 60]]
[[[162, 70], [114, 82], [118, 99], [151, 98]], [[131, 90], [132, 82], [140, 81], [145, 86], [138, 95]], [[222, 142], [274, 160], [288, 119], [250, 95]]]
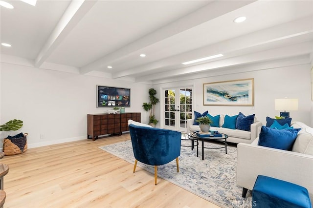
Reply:
[[[251, 66], [253, 67], [253, 66]], [[211, 115], [228, 114], [237, 115], [239, 112], [245, 115], [255, 114], [257, 119], [264, 125], [266, 117], [279, 116], [279, 111], [274, 110], [275, 98], [298, 98], [299, 110], [291, 111], [292, 121], [301, 121], [307, 125], [311, 124], [311, 66], [301, 64], [256, 70], [250, 72], [234, 73], [228, 75], [204, 77], [184, 82], [173, 82], [157, 84], [154, 87], [158, 95], [162, 88], [173, 86], [194, 86], [193, 104], [194, 109], [199, 112], [208, 110]], [[254, 106], [203, 106], [203, 83], [222, 82], [238, 79], [254, 78]], [[163, 114], [157, 115], [162, 120]]]

